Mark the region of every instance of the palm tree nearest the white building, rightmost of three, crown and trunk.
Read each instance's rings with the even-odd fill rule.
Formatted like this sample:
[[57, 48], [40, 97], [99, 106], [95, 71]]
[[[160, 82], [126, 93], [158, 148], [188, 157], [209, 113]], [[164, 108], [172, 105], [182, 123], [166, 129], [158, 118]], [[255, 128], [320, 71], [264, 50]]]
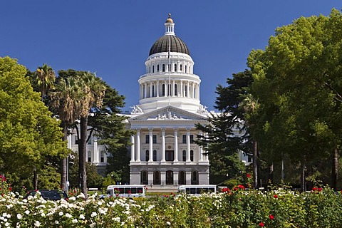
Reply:
[[81, 185], [81, 192], [87, 197], [87, 173], [86, 173], [86, 144], [88, 130], [88, 115], [92, 108], [102, 106], [105, 95], [105, 83], [96, 77], [94, 73], [86, 72], [81, 75], [80, 87], [82, 95], [79, 99], [78, 117], [80, 118], [80, 140], [78, 142], [78, 176]]

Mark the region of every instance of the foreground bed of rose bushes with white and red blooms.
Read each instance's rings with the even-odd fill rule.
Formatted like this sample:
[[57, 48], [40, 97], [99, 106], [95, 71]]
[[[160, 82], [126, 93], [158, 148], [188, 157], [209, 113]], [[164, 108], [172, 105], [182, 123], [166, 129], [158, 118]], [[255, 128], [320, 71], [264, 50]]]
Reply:
[[[6, 181], [2, 181], [6, 185]], [[299, 194], [286, 187], [216, 195], [150, 198], [70, 196], [43, 201], [9, 190], [0, 196], [1, 227], [341, 227], [342, 195], [328, 187]], [[23, 206], [23, 203], [25, 207]], [[11, 205], [9, 207], [9, 205]]]

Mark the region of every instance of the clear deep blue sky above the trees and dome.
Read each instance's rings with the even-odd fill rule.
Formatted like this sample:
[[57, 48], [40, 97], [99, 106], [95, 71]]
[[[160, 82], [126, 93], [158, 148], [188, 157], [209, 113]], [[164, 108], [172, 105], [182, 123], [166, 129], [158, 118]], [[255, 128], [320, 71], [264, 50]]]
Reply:
[[264, 49], [279, 26], [300, 16], [328, 15], [341, 0], [11, 0], [0, 4], [0, 56], [31, 71], [92, 71], [139, 102], [138, 78], [150, 47], [164, 35], [167, 14], [190, 48], [202, 79], [201, 103], [212, 110], [218, 84], [244, 71], [252, 49]]

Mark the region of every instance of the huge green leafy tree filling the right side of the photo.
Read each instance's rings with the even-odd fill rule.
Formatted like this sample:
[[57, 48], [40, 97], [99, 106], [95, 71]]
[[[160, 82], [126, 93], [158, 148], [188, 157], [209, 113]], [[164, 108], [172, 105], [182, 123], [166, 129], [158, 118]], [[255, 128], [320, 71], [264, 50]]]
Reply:
[[336, 157], [341, 145], [341, 19], [335, 9], [329, 16], [301, 17], [276, 28], [269, 46], [248, 59], [262, 128], [254, 137], [270, 160], [286, 154], [300, 162], [302, 190], [311, 167]]

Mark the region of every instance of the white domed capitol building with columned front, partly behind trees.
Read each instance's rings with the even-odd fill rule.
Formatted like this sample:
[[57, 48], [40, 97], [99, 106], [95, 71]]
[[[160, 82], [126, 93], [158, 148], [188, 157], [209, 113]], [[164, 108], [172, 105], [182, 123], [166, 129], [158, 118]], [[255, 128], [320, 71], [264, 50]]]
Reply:
[[[207, 107], [200, 103], [199, 76], [194, 72], [189, 48], [175, 36], [169, 17], [165, 34], [155, 41], [140, 76], [140, 100], [128, 115], [127, 128], [136, 131], [130, 140], [131, 185], [208, 185], [209, 160], [195, 144], [196, 123], [206, 124]], [[69, 137], [69, 147], [78, 150]], [[107, 155], [92, 138], [88, 162], [105, 167]], [[242, 153], [241, 160], [247, 160]]]

